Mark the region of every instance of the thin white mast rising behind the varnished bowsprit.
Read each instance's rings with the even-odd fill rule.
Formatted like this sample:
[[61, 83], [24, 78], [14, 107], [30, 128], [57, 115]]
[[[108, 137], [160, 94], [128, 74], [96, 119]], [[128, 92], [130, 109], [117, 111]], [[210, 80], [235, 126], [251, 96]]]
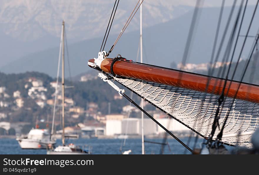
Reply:
[[[140, 5], [140, 62], [143, 62], [142, 58], [142, 4]], [[143, 109], [143, 99], [141, 98], [141, 108]], [[142, 133], [142, 154], [145, 154], [144, 147], [144, 113], [141, 112], [141, 133]]]

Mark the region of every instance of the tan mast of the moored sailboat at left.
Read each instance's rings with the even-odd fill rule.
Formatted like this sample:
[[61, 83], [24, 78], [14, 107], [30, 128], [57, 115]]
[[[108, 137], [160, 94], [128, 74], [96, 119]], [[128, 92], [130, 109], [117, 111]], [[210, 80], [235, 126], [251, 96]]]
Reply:
[[65, 61], [64, 61], [64, 27], [65, 27], [65, 22], [62, 22], [62, 28], [63, 28], [63, 39], [62, 39], [62, 128], [63, 128], [63, 132], [62, 132], [62, 144], [63, 146], [65, 146], [65, 131], [64, 131], [64, 127], [65, 127], [65, 111], [64, 111], [64, 94], [65, 94], [65, 81], [64, 81], [64, 69], [65, 69]]

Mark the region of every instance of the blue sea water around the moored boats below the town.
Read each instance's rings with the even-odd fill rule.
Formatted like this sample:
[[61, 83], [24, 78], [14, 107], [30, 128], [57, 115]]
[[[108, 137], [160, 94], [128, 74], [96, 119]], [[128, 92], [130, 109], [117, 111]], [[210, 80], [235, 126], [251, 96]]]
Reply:
[[[147, 141], [159, 142], [162, 143], [163, 139], [145, 139]], [[188, 137], [181, 138], [184, 143], [187, 143]], [[194, 138], [191, 139], [189, 147], [193, 148]], [[93, 154], [121, 154], [120, 147], [124, 139], [98, 139], [98, 138], [79, 138], [73, 140], [67, 140], [66, 143], [74, 144], [87, 144], [92, 146]], [[168, 146], [165, 146], [164, 154], [190, 154], [185, 147], [183, 147], [175, 139], [168, 139]], [[203, 139], [197, 141], [196, 147], [200, 147]], [[62, 142], [60, 139], [57, 140], [57, 145], [60, 145]], [[132, 154], [141, 154], [142, 146], [141, 139], [127, 139], [125, 146], [122, 147], [122, 151], [132, 150]], [[160, 154], [161, 145], [154, 143], [145, 143], [145, 153], [146, 154]], [[186, 150], [186, 151], [185, 151]], [[46, 154], [45, 149], [21, 149], [17, 141], [13, 138], [1, 138], [0, 139], [0, 154]]]

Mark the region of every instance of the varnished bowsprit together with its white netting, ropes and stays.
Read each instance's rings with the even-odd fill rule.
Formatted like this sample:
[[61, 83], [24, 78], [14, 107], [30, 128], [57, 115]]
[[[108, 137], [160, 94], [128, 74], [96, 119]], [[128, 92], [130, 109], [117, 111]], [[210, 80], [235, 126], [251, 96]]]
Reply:
[[[233, 6], [228, 16], [228, 22], [225, 26], [218, 51], [216, 52], [215, 48], [217, 45], [218, 33], [220, 30], [223, 7], [225, 3], [224, 0], [222, 1], [218, 27], [216, 29], [215, 40], [212, 49], [210, 67], [208, 70], [208, 76], [134, 62], [132, 60], [127, 60], [120, 55], [113, 59], [108, 58], [109, 54], [112, 52], [113, 48], [117, 44], [119, 38], [122, 36], [123, 32], [136, 14], [143, 0], [141, 2], [140, 0], [138, 1], [126, 24], [119, 33], [119, 36], [107, 53], [104, 51], [104, 47], [109, 35], [109, 31], [111, 29], [117, 6], [119, 4], [119, 1], [115, 1], [115, 4], [117, 2], [117, 6], [115, 11], [114, 8], [112, 10], [113, 18], [111, 15], [104, 35], [105, 39], [107, 30], [109, 28], [105, 43], [103, 39], [100, 52], [98, 53], [98, 58], [89, 60], [88, 65], [94, 69], [99, 70], [100, 73], [98, 76], [101, 79], [108, 82], [109, 85], [111, 85], [119, 92], [119, 95], [124, 96], [127, 100], [129, 100], [132, 104], [134, 104], [137, 108], [144, 112], [149, 118], [151, 118], [155, 123], [162, 127], [167, 133], [169, 133], [178, 142], [185, 146], [185, 148], [187, 148], [189, 151], [192, 151], [192, 149], [189, 148], [185, 143], [180, 141], [180, 139], [175, 137], [164, 126], [158, 123], [151, 115], [143, 110], [143, 108], [137, 105], [131, 98], [129, 98], [125, 94], [125, 90], [119, 89], [118, 86], [111, 81], [111, 79], [115, 80], [119, 84], [123, 85], [125, 88], [140, 96], [145, 101], [149, 102], [156, 108], [165, 112], [170, 117], [190, 128], [192, 131], [197, 133], [197, 136], [200, 135], [205, 138], [207, 140], [206, 145], [208, 148], [218, 148], [220, 146], [220, 143], [230, 146], [238, 145], [252, 148], [253, 144], [251, 143], [250, 138], [253, 132], [259, 126], [259, 86], [244, 83], [242, 81], [247, 71], [251, 57], [255, 51], [255, 48], [257, 47], [259, 37], [258, 35], [256, 35], [255, 37], [255, 41], [249, 53], [248, 60], [244, 67], [240, 81], [234, 81], [233, 79], [238, 67], [241, 54], [243, 52], [243, 48], [246, 43], [246, 39], [249, 36], [248, 34], [250, 32], [250, 27], [253, 23], [254, 15], [257, 10], [258, 1], [255, 5], [253, 15], [250, 19], [245, 39], [243, 41], [238, 61], [235, 65], [232, 76], [229, 75], [230, 68], [232, 66], [233, 57], [236, 52], [236, 45], [240, 36], [240, 29], [243, 24], [248, 0], [245, 1], [244, 7], [244, 1], [242, 0], [240, 3], [233, 28], [230, 31], [230, 38], [228, 39], [228, 44], [223, 54], [222, 65], [216, 77], [213, 77], [215, 64], [219, 59], [221, 49], [226, 38], [226, 33], [228, 32], [230, 21], [233, 17], [233, 11], [237, 2], [236, 0], [234, 0], [233, 2]], [[184, 55], [182, 58], [182, 67], [185, 66], [185, 63], [187, 61], [188, 51], [191, 47], [192, 35], [195, 31], [195, 24], [197, 23], [199, 10], [202, 7], [202, 4], [203, 1], [197, 0], [192, 23], [187, 37]], [[243, 14], [241, 13], [242, 9]], [[240, 21], [241, 14], [242, 17]], [[228, 62], [230, 57], [230, 52], [232, 50], [239, 21], [240, 25], [238, 29], [238, 34], [235, 40], [233, 52], [231, 54], [230, 64], [227, 69], [226, 62]], [[104, 47], [102, 49], [103, 43]], [[231, 79], [228, 79], [228, 77], [231, 77]], [[211, 132], [209, 132], [210, 128]], [[195, 144], [196, 141], [197, 137], [195, 140]], [[212, 142], [214, 141], [216, 142], [212, 145]]]

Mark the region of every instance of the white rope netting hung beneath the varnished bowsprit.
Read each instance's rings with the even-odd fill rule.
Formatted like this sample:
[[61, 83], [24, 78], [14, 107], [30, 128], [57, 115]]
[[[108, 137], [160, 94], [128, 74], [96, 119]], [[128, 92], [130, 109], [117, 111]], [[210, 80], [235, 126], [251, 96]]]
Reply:
[[[201, 136], [210, 135], [218, 108], [218, 95], [137, 79], [115, 80]], [[220, 111], [220, 129], [229, 113], [222, 142], [251, 148], [251, 135], [259, 126], [259, 104], [226, 98], [225, 103], [220, 106]], [[219, 132], [217, 128], [214, 136]]]

